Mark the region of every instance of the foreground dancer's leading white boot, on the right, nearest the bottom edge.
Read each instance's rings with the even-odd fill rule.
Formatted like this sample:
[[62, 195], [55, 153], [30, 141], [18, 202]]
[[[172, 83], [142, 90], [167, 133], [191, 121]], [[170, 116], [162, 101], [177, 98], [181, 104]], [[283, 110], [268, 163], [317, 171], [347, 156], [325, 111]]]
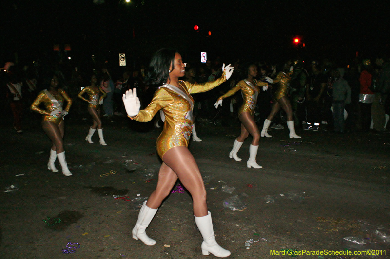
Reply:
[[213, 222], [211, 220], [211, 213], [207, 211], [207, 215], [203, 217], [195, 217], [195, 223], [200, 234], [202, 234], [203, 242], [201, 245], [202, 254], [208, 256], [210, 253], [216, 257], [228, 257], [230, 251], [223, 249], [215, 240]]

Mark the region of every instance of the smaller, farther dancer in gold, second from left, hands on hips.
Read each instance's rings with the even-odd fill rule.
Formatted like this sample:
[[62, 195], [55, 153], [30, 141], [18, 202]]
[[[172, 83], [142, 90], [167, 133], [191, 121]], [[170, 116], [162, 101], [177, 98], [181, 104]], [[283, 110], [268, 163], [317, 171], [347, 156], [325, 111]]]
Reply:
[[[85, 140], [89, 143], [92, 142], [92, 136], [95, 133], [96, 128], [98, 128], [99, 134], [99, 143], [100, 145], [106, 146], [106, 142], [103, 137], [103, 129], [101, 128], [101, 119], [100, 119], [100, 104], [102, 104], [104, 97], [107, 96], [106, 92], [103, 91], [99, 86], [96, 85], [97, 82], [96, 75], [91, 76], [91, 86], [84, 87], [81, 92], [78, 94], [78, 98], [81, 98], [85, 102], [88, 102], [88, 112], [91, 114], [92, 119], [94, 120], [92, 126], [89, 128], [89, 132]], [[83, 94], [87, 93], [89, 100], [83, 97]]]

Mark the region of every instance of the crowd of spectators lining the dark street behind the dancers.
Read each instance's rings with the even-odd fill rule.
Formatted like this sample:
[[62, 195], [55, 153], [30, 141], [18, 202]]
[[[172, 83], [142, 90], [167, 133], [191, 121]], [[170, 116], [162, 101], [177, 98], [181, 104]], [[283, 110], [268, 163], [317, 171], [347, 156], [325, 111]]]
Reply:
[[[339, 65], [328, 59], [292, 60], [294, 72], [291, 76], [289, 98], [292, 105], [295, 127], [304, 130], [328, 130], [338, 133], [349, 131], [384, 131], [389, 121], [390, 107], [390, 62], [385, 56], [352, 60], [348, 65]], [[147, 61], [145, 61], [145, 64]], [[228, 98], [227, 104], [215, 109], [217, 97], [233, 88], [240, 80], [241, 67], [246, 62], [236, 59], [232, 77], [215, 89], [194, 94], [194, 113], [197, 120], [207, 123], [232, 126], [238, 123], [237, 109], [242, 102], [239, 93]], [[274, 78], [279, 65], [258, 61], [258, 80]], [[221, 75], [219, 58], [207, 63], [187, 63], [183, 80], [203, 83]], [[32, 100], [40, 90], [45, 89], [44, 76], [49, 70], [58, 75], [59, 84], [74, 100], [72, 109], [83, 112], [82, 102], [77, 95], [82, 87], [89, 86], [92, 73], [96, 74], [99, 86], [107, 93], [103, 103], [103, 116], [125, 116], [122, 94], [127, 89], [137, 88], [141, 108], [153, 98], [155, 86], [147, 81], [147, 66], [137, 68], [110, 68], [107, 63], [86, 71], [70, 64], [58, 63], [51, 66], [39, 62], [21, 67], [7, 62], [0, 74], [3, 88], [2, 110], [13, 114], [13, 126], [22, 132], [22, 118]], [[15, 92], [18, 91], [18, 93]], [[255, 120], [259, 126], [271, 111], [275, 87], [260, 91], [255, 109]], [[286, 115], [280, 111], [270, 128], [283, 129]], [[155, 125], [158, 125], [155, 123]]]

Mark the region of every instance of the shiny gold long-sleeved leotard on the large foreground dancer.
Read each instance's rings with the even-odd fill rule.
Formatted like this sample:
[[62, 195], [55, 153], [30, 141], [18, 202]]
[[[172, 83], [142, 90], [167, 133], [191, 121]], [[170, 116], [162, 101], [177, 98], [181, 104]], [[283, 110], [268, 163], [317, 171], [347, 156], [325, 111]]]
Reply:
[[165, 115], [164, 128], [156, 142], [157, 153], [162, 158], [165, 152], [173, 147], [188, 147], [188, 141], [192, 133], [192, 110], [194, 107], [194, 99], [191, 94], [206, 92], [225, 81], [225, 72], [215, 81], [202, 84], [179, 81], [179, 86], [181, 86], [186, 96], [172, 90], [175, 86], [160, 86], [148, 107], [140, 110], [137, 116], [130, 118], [140, 122], [147, 122], [152, 120], [157, 111], [162, 109]]

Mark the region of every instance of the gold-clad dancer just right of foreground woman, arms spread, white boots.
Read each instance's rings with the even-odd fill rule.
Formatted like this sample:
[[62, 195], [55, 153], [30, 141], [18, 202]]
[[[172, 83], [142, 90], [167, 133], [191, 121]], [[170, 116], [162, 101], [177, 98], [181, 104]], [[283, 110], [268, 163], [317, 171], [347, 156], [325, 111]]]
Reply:
[[257, 76], [257, 66], [250, 64], [243, 70], [242, 77], [245, 78], [237, 83], [237, 85], [226, 94], [218, 98], [215, 103], [215, 108], [218, 105], [222, 105], [222, 100], [229, 96], [234, 95], [236, 92], [241, 90], [244, 102], [238, 110], [238, 118], [241, 121], [241, 135], [234, 140], [233, 149], [229, 154], [230, 158], [234, 158], [235, 161], [241, 161], [241, 158], [237, 156], [238, 150], [240, 150], [242, 143], [248, 138], [249, 134], [252, 135], [252, 143], [249, 146], [249, 159], [247, 161], [247, 167], [251, 168], [262, 168], [262, 166], [256, 163], [256, 155], [259, 147], [260, 131], [254, 121], [254, 107], [256, 107], [257, 96], [259, 93], [259, 87], [262, 90], [266, 90], [268, 87], [267, 83], [258, 81], [255, 79]]

